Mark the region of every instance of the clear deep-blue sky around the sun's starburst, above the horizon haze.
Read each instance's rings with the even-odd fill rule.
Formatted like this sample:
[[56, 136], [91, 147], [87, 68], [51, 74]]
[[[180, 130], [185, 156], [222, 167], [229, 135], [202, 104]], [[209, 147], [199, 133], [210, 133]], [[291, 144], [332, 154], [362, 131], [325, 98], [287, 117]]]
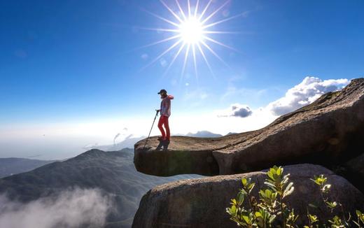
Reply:
[[[165, 2], [176, 8], [175, 1]], [[180, 2], [186, 9], [187, 1]], [[201, 7], [207, 2], [201, 0]], [[207, 14], [224, 2], [213, 1]], [[363, 8], [354, 0], [232, 0], [211, 22], [242, 13], [214, 27], [238, 33], [211, 37], [237, 51], [211, 43], [229, 67], [207, 51], [215, 78], [197, 56], [197, 83], [190, 59], [181, 76], [182, 57], [164, 75], [178, 48], [144, 69], [173, 43], [140, 48], [170, 35], [144, 29], [169, 27], [146, 11], [174, 19], [160, 1], [1, 1], [0, 131], [151, 122], [162, 88], [175, 97], [172, 115], [187, 118], [236, 103], [267, 106], [306, 76], [358, 78], [364, 74]]]

